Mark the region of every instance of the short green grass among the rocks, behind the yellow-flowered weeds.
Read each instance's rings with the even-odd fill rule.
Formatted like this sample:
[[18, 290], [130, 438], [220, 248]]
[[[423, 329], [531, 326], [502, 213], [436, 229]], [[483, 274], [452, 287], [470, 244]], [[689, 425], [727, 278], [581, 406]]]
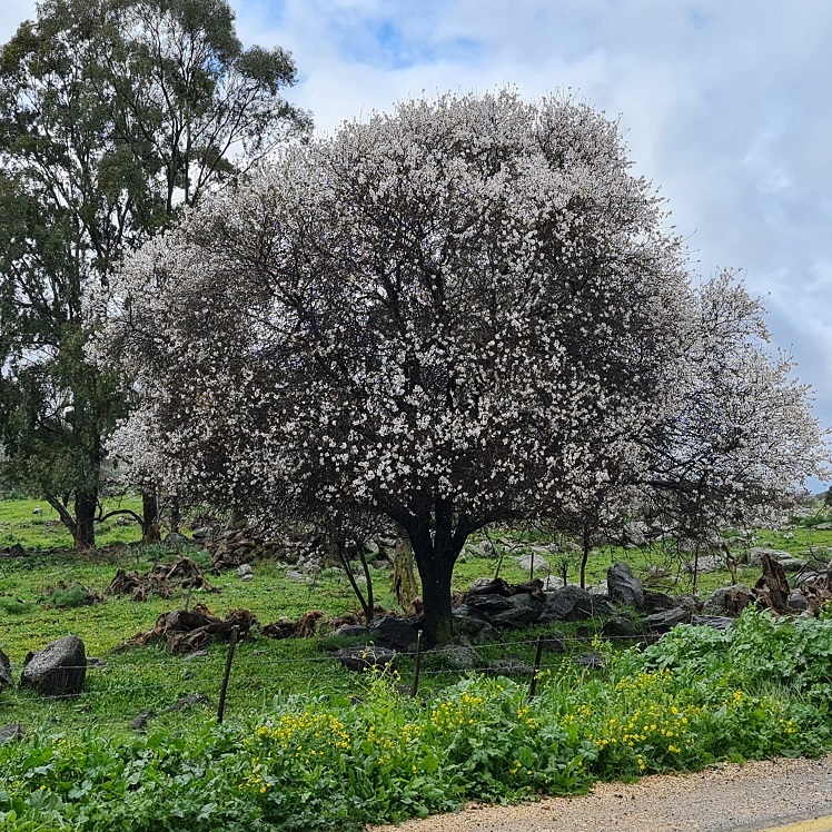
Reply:
[[[822, 519], [816, 517], [814, 522]], [[125, 521], [110, 521], [99, 529], [99, 545], [102, 546], [135, 543], [138, 537], [138, 526]], [[464, 590], [474, 578], [493, 576], [497, 569], [511, 582], [524, 581], [528, 575], [519, 568], [515, 557], [527, 554], [534, 545], [549, 542], [545, 534], [534, 531], [497, 529], [491, 534], [491, 539], [498, 549], [508, 547], [507, 554], [502, 561], [478, 554], [488, 551], [484, 545], [486, 538], [473, 541], [473, 547], [457, 566], [456, 588]], [[832, 547], [832, 532], [795, 525], [779, 532], [760, 532], [750, 542], [805, 556]], [[164, 612], [181, 608], [188, 603], [188, 597], [186, 592], [178, 591], [169, 598], [151, 597], [137, 603], [107, 595], [116, 571], [122, 567], [143, 573], [156, 563], [172, 563], [177, 554], [161, 545], [72, 554], [66, 551], [71, 543], [69, 535], [62, 531], [48, 505], [34, 501], [0, 501], [0, 546], [14, 543], [23, 545], [28, 554], [0, 558], [0, 647], [11, 658], [16, 673], [29, 651], [40, 650], [53, 638], [70, 633], [80, 635], [88, 655], [100, 658], [101, 664], [90, 667], [87, 690], [76, 700], [41, 700], [27, 691], [6, 691], [0, 696], [0, 721], [29, 726], [53, 724], [62, 730], [76, 730], [92, 722], [108, 731], [119, 732], [127, 730], [130, 720], [142, 711], [152, 711], [159, 724], [187, 724], [212, 719], [212, 705], [197, 706], [186, 713], [168, 713], [166, 709], [180, 696], [195, 693], [216, 702], [226, 657], [225, 645], [214, 645], [208, 655], [191, 661], [172, 656], [156, 646], [117, 651], [125, 640], [152, 628]], [[209, 557], [204, 551], [188, 547], [187, 554], [208, 567]], [[577, 580], [575, 557], [569, 555], [571, 581]], [[654, 585], [672, 593], [690, 591], [690, 575], [680, 569], [670, 554], [656, 549], [597, 551], [590, 562], [588, 581], [602, 581], [607, 566], [621, 559], [631, 563], [643, 575], [651, 566], [663, 566], [671, 577], [654, 581]], [[553, 568], [557, 571], [558, 565], [553, 563]], [[255, 577], [248, 582], [241, 581], [234, 571], [209, 575], [208, 580], [219, 592], [194, 593], [189, 601], [191, 605], [197, 602], [206, 604], [220, 617], [232, 610], [246, 608], [260, 624], [281, 616], [296, 620], [309, 610], [320, 610], [327, 616], [357, 610], [353, 591], [337, 569], [299, 581], [287, 576], [289, 568], [276, 562], [258, 562]], [[741, 568], [739, 578], [753, 584], [759, 576], [759, 568]], [[373, 578], [378, 603], [395, 608], [389, 569], [374, 568]], [[730, 583], [730, 576], [724, 571], [702, 575], [700, 591], [704, 593], [726, 583]], [[101, 601], [88, 606], [56, 606], [52, 603], [56, 588], [72, 584], [81, 584]], [[590, 628], [592, 631], [592, 626]], [[565, 630], [549, 627], [553, 634], [567, 637], [574, 630], [574, 626]], [[536, 631], [505, 632], [502, 640], [507, 643], [481, 648], [483, 661], [508, 655], [528, 663], [536, 634]], [[229, 687], [229, 714], [242, 716], [261, 710], [276, 695], [308, 694], [310, 691], [360, 695], [365, 681], [340, 667], [331, 654], [334, 646], [326, 633], [318, 638], [275, 641], [259, 636], [255, 631], [238, 646]], [[587, 650], [587, 645], [577, 640], [569, 644], [569, 650], [582, 652]], [[546, 661], [556, 663], [559, 658]], [[410, 672], [409, 660], [405, 658], [400, 666], [405, 681], [409, 681]], [[442, 686], [458, 675], [448, 672], [440, 658], [427, 656], [423, 685], [428, 689]]]

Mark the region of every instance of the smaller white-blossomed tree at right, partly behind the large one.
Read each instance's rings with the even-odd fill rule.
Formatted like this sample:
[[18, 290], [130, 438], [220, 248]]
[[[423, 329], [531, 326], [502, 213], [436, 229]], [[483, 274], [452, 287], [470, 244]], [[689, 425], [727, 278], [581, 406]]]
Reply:
[[697, 554], [727, 525], [780, 522], [795, 484], [829, 475], [829, 448], [811, 390], [792, 378], [789, 356], [770, 351], [764, 309], [733, 275], [702, 287], [692, 320], [645, 485], [654, 509]]

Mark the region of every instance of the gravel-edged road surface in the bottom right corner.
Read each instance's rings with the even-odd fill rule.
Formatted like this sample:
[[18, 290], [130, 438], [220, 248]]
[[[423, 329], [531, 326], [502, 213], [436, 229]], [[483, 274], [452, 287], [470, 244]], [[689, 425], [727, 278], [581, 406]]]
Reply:
[[832, 755], [600, 783], [577, 798], [471, 805], [369, 832], [745, 832], [824, 815], [832, 815]]

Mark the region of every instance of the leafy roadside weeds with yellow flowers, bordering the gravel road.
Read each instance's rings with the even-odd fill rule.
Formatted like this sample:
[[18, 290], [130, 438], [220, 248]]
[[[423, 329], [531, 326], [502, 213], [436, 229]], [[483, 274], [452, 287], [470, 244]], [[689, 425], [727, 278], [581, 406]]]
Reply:
[[[597, 646], [597, 645], [596, 645]], [[832, 746], [829, 621], [746, 613], [679, 627], [603, 671], [564, 661], [538, 696], [469, 676], [424, 702], [368, 674], [360, 699], [289, 695], [224, 727], [111, 743], [89, 732], [0, 747], [9, 830], [358, 830], [368, 822], [586, 790], [596, 780]], [[769, 656], [767, 658], [765, 656]]]

